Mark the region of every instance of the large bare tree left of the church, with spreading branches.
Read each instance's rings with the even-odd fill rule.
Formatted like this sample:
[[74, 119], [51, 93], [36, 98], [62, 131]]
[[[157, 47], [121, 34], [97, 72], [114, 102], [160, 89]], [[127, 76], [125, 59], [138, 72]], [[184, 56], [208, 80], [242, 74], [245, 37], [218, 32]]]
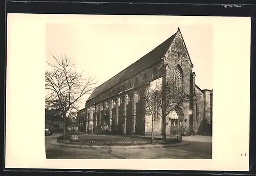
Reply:
[[79, 99], [90, 94], [95, 89], [95, 77], [84, 79], [83, 72], [78, 72], [72, 59], [66, 55], [59, 58], [52, 55], [55, 63], [47, 62], [50, 70], [45, 73], [45, 89], [49, 92], [46, 96], [46, 105], [59, 109], [63, 118], [63, 137], [66, 137], [66, 119], [78, 111]]

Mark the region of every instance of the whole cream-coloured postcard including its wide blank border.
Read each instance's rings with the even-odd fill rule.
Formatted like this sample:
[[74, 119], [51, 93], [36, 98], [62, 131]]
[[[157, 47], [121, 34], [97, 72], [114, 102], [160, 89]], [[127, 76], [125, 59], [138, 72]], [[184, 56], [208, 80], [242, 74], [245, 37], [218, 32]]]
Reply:
[[7, 27], [6, 168], [249, 169], [249, 17], [8, 13]]

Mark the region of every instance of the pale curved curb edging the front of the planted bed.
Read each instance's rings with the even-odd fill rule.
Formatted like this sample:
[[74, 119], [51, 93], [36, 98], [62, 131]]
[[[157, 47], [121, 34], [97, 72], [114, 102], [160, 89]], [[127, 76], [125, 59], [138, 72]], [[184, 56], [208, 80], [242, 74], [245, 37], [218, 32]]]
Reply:
[[132, 149], [132, 148], [163, 148], [163, 147], [173, 147], [173, 146], [182, 146], [182, 145], [188, 145], [190, 144], [188, 141], [182, 141], [181, 143], [177, 144], [144, 144], [144, 145], [133, 145], [133, 146], [121, 146], [121, 145], [112, 145], [112, 146], [98, 146], [98, 145], [77, 145], [77, 144], [65, 144], [60, 143], [57, 141], [51, 141], [51, 145], [54, 146], [60, 146], [60, 147], [70, 147], [70, 148], [126, 148], [126, 149]]

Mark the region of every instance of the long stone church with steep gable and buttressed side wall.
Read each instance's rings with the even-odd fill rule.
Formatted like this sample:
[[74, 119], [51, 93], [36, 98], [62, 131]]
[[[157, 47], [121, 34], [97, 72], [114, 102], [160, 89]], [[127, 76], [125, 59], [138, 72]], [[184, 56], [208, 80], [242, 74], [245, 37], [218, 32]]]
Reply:
[[151, 52], [93, 91], [85, 108], [78, 112], [79, 130], [94, 133], [97, 126], [107, 124], [122, 135], [151, 134], [152, 115], [146, 111], [139, 89], [156, 80], [164, 85], [169, 79], [176, 80], [179, 93], [189, 95], [189, 100], [175, 105], [165, 117], [160, 116], [162, 108], [157, 108], [153, 115], [154, 134], [162, 134], [165, 125], [166, 135], [186, 129], [211, 135], [212, 90], [200, 89], [195, 84], [193, 63], [179, 28]]

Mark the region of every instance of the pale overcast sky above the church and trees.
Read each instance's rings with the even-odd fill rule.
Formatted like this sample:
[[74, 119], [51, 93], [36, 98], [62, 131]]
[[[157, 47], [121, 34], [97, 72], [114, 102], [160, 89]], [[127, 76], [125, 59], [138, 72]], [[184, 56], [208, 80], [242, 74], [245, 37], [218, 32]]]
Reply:
[[[113, 23], [47, 24], [47, 61], [66, 54], [75, 61], [78, 71], [96, 76], [98, 85], [153, 50], [161, 42], [181, 30], [190, 59], [194, 64], [196, 84], [212, 89], [212, 26], [164, 23], [127, 23], [125, 18]], [[89, 95], [82, 98], [80, 109]]]

